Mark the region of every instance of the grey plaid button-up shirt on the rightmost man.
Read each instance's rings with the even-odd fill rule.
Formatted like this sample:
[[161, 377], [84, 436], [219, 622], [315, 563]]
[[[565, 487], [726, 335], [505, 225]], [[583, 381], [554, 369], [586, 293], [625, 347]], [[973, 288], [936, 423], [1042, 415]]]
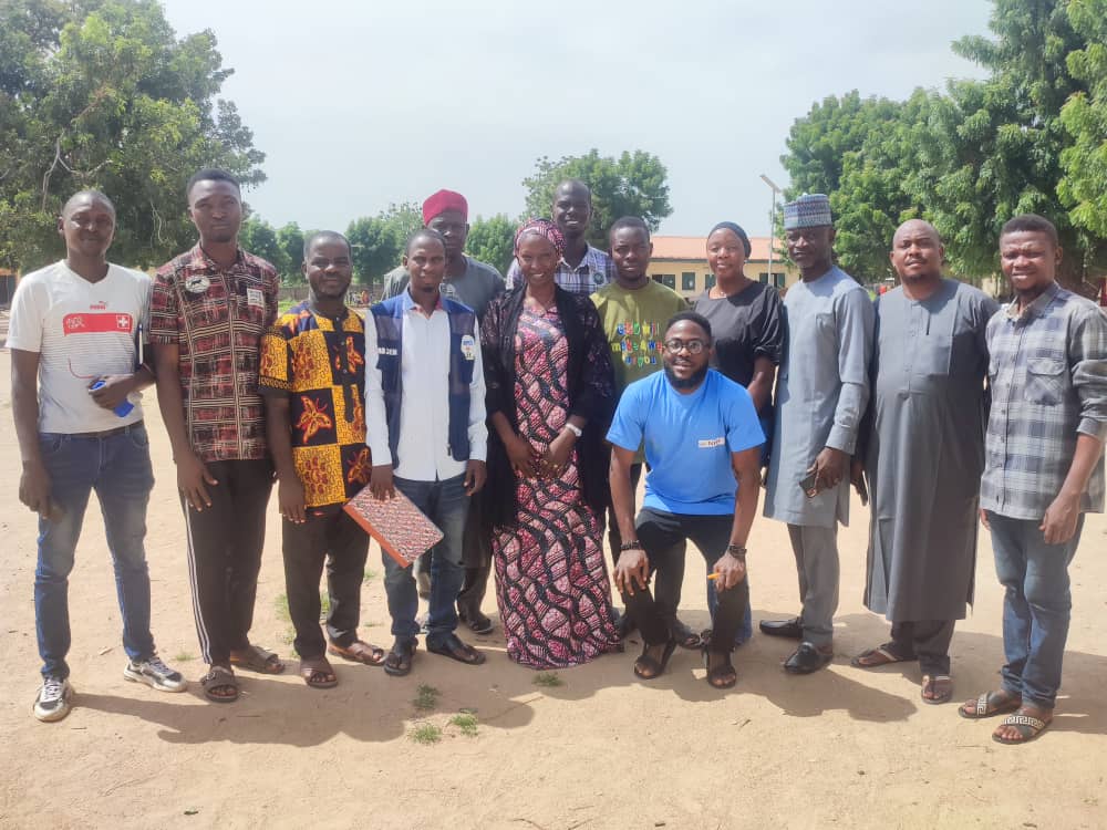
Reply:
[[[992, 407], [980, 504], [1013, 519], [1041, 519], [1061, 492], [1077, 434], [1107, 439], [1107, 317], [1056, 283], [1020, 313], [987, 323]], [[1080, 496], [1104, 510], [1104, 460]]]

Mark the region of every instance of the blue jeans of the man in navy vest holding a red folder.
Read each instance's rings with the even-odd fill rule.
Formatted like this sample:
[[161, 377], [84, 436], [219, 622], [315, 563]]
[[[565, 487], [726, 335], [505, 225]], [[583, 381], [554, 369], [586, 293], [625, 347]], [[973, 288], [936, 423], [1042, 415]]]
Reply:
[[[455, 602], [465, 580], [462, 546], [469, 508], [465, 476], [445, 481], [412, 481], [399, 476], [394, 480], [396, 489], [410, 498], [443, 533], [442, 541], [431, 548], [431, 603], [426, 636], [428, 646], [439, 646], [457, 627]], [[392, 636], [399, 642], [414, 642], [418, 634], [415, 577], [411, 568], [400, 567], [387, 553], [382, 553], [381, 559], [384, 561], [389, 613], [392, 614]]]

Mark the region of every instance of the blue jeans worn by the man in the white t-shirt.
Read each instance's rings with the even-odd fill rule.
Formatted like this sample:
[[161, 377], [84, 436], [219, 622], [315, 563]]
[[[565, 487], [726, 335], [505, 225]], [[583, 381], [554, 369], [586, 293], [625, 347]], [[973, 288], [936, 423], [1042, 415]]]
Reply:
[[132, 660], [152, 656], [149, 573], [143, 540], [154, 471], [145, 427], [138, 423], [106, 438], [41, 433], [39, 447], [50, 475], [51, 498], [63, 511], [56, 521], [39, 519], [34, 621], [42, 675], [69, 677], [69, 574], [92, 490], [100, 499], [115, 568], [123, 649]]

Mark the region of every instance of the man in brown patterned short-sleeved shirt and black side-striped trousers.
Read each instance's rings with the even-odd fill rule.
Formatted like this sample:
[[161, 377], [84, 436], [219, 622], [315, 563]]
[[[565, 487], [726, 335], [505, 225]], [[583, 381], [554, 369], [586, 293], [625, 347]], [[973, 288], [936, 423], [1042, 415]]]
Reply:
[[277, 271], [238, 247], [242, 203], [225, 170], [188, 181], [199, 243], [163, 266], [151, 297], [157, 398], [177, 465], [205, 694], [238, 698], [231, 665], [280, 658], [248, 639], [273, 467], [258, 393], [259, 342], [277, 320]]

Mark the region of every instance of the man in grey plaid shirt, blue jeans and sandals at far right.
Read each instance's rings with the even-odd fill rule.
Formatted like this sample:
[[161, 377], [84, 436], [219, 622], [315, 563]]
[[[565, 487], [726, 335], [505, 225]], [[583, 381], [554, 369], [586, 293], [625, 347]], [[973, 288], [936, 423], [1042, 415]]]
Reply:
[[1000, 263], [1015, 299], [987, 325], [992, 408], [981, 481], [981, 521], [992, 532], [1006, 589], [997, 692], [962, 717], [1014, 713], [1001, 744], [1037, 737], [1053, 719], [1068, 637], [1068, 563], [1085, 512], [1104, 510], [1107, 317], [1056, 281], [1053, 224], [1017, 216], [1000, 234]]

